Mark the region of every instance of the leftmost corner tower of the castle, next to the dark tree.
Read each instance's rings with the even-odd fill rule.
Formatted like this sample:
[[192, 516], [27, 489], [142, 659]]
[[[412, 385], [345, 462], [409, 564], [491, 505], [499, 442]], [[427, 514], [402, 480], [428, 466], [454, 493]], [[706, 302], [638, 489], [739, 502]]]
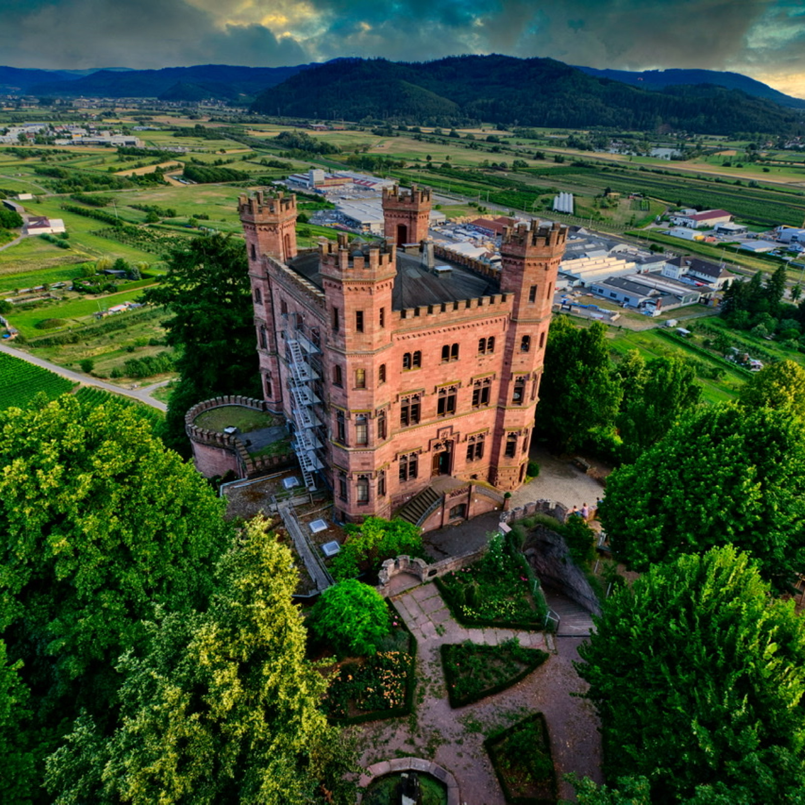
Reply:
[[281, 411], [277, 328], [266, 258], [284, 263], [296, 256], [296, 196], [258, 191], [241, 196], [237, 212], [246, 233], [263, 398], [272, 411]]

